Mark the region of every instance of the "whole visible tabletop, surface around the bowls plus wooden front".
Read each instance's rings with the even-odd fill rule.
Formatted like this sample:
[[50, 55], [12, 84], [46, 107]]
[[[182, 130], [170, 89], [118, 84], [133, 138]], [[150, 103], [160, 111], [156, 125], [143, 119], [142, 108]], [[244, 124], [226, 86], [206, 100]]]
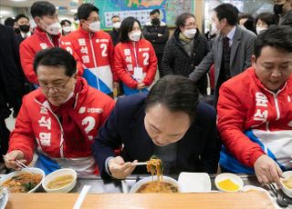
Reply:
[[[260, 186], [255, 176], [238, 174], [245, 185]], [[8, 209], [72, 208], [85, 184], [91, 185], [82, 208], [275, 208], [266, 193], [127, 194], [130, 187], [149, 175], [130, 175], [125, 180], [103, 181], [100, 176], [78, 177], [69, 194], [9, 194]], [[169, 175], [177, 179], [177, 175]], [[212, 190], [215, 174], [210, 175]], [[122, 194], [125, 193], [125, 194]]]

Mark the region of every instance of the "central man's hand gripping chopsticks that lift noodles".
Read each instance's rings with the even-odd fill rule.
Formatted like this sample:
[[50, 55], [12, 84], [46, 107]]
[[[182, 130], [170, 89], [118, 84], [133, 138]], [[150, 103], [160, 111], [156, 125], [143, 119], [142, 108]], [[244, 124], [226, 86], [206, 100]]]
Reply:
[[[135, 160], [133, 163], [137, 163]], [[133, 165], [130, 162], [125, 163], [122, 157], [117, 156], [111, 158], [109, 161], [109, 170], [111, 176], [117, 179], [125, 179], [128, 175], [130, 175], [135, 169], [136, 165]]]

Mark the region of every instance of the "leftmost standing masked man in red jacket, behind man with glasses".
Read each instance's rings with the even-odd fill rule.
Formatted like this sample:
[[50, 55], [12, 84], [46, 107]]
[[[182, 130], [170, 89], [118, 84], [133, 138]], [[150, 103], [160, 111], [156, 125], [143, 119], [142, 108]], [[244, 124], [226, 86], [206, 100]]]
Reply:
[[21, 43], [19, 53], [26, 78], [29, 82], [38, 85], [33, 67], [35, 55], [40, 50], [59, 46], [61, 25], [57, 21], [55, 5], [49, 2], [35, 2], [31, 6], [30, 12], [37, 26], [34, 35]]

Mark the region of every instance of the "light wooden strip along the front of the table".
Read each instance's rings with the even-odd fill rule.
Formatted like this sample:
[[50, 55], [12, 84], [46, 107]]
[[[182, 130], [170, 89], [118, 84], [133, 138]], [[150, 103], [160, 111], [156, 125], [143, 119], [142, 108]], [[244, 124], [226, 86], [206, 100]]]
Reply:
[[[10, 194], [7, 209], [73, 208], [78, 194]], [[264, 192], [208, 194], [88, 194], [82, 208], [275, 208]]]

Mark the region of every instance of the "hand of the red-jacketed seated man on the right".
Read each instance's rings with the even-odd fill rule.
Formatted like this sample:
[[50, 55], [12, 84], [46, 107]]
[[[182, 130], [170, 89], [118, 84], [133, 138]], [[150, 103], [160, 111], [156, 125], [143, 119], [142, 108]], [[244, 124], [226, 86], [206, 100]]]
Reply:
[[275, 182], [279, 188], [282, 187], [280, 183], [282, 170], [272, 158], [263, 154], [255, 161], [254, 167], [257, 180], [260, 183], [271, 184]]

